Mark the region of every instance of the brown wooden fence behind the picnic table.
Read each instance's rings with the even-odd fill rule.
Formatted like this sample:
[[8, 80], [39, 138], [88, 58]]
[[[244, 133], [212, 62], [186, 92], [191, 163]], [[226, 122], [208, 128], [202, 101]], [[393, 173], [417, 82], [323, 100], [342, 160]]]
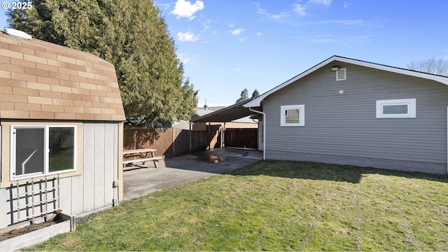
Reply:
[[123, 147], [125, 150], [136, 148], [155, 148], [155, 155], [173, 157], [207, 148], [221, 146], [219, 125], [207, 126], [205, 131], [190, 131], [175, 128], [165, 129], [125, 129]]

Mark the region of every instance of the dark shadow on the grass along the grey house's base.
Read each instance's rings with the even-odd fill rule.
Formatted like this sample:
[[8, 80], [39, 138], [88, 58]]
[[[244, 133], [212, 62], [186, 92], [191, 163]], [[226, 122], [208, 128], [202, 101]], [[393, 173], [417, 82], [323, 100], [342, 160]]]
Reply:
[[422, 172], [403, 172], [379, 168], [355, 167], [350, 165], [279, 160], [258, 161], [246, 167], [234, 169], [228, 172], [228, 174], [240, 176], [279, 176], [291, 179], [342, 181], [348, 183], [359, 183], [360, 179], [365, 174], [381, 174], [386, 176], [400, 176], [408, 179], [427, 179], [430, 181], [448, 182], [448, 176], [445, 174], [425, 174]]

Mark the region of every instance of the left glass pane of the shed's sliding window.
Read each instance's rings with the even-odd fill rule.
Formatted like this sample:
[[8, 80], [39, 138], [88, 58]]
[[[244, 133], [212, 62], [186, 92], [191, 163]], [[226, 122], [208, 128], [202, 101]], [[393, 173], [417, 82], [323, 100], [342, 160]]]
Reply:
[[15, 129], [15, 175], [44, 172], [44, 128]]

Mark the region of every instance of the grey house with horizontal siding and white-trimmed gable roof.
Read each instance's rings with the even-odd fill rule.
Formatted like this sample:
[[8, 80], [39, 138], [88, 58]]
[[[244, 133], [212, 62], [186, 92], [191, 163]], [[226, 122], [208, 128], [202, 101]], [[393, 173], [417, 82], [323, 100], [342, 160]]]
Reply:
[[243, 106], [264, 155], [447, 174], [448, 78], [333, 56]]

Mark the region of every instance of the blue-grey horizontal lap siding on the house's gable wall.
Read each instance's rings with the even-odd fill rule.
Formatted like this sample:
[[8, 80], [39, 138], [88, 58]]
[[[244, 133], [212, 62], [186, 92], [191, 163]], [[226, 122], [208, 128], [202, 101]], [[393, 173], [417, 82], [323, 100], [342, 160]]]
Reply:
[[[346, 68], [346, 80], [336, 81], [333, 65]], [[446, 173], [447, 97], [448, 87], [433, 80], [332, 62], [263, 101], [266, 155], [423, 162], [439, 164], [430, 172]], [[376, 118], [377, 100], [407, 98], [416, 98], [416, 118]], [[299, 104], [304, 104], [304, 127], [281, 127], [280, 106]]]

